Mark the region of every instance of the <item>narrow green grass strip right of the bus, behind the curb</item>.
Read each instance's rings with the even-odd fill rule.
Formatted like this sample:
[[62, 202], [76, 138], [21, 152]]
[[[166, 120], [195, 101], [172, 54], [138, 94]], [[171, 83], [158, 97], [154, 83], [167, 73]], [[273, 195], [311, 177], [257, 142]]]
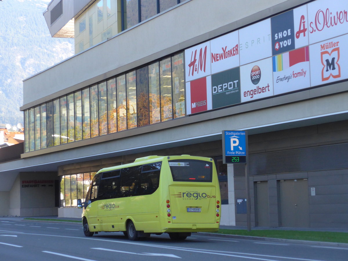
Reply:
[[323, 232], [323, 231], [298, 231], [298, 230], [233, 230], [219, 229], [219, 234], [271, 237], [295, 240], [309, 240], [320, 242], [348, 243], [348, 233], [345, 232]]

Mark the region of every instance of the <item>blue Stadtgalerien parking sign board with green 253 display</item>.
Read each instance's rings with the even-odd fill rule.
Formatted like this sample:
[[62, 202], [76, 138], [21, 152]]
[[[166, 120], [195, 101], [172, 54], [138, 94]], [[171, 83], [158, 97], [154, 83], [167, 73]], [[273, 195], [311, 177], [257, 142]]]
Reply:
[[223, 163], [246, 163], [247, 133], [244, 130], [222, 132]]

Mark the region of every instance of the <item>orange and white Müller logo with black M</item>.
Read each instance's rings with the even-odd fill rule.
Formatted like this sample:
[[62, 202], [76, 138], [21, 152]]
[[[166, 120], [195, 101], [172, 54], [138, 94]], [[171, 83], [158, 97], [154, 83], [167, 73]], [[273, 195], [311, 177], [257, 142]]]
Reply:
[[[340, 48], [339, 48], [339, 41], [331, 41], [327, 42], [325, 44], [320, 45], [321, 49], [321, 61], [323, 64], [322, 69], [322, 81], [327, 81], [332, 78], [339, 78], [341, 77], [341, 67], [338, 64], [338, 61], [340, 59]], [[335, 47], [335, 48], [333, 48]], [[331, 52], [327, 51], [326, 49], [331, 49]]]

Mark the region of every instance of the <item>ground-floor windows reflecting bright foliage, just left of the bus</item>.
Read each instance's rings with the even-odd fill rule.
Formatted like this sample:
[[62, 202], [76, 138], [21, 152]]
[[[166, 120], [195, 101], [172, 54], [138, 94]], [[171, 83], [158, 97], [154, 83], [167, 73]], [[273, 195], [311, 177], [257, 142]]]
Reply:
[[86, 198], [86, 194], [96, 172], [61, 176], [61, 207], [77, 207], [77, 200]]

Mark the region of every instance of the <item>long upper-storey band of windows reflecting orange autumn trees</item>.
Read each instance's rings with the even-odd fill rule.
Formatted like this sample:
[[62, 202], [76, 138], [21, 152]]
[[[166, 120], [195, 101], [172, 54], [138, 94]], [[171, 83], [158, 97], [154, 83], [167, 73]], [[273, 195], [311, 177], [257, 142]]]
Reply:
[[24, 111], [25, 152], [184, 116], [179, 53]]

